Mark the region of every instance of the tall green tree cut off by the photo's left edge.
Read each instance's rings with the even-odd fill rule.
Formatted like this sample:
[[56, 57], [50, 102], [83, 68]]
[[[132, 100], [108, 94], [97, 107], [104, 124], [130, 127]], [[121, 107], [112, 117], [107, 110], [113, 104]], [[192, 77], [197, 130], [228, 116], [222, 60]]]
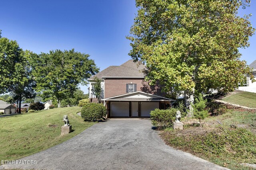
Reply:
[[23, 51], [16, 41], [0, 37], [0, 93], [10, 93], [19, 108], [22, 100], [35, 97], [29, 53]]

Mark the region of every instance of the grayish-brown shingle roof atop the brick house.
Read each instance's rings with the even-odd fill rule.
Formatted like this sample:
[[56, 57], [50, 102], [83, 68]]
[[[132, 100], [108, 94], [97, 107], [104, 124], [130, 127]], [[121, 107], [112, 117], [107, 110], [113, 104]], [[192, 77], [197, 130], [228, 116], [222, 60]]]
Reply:
[[[110, 66], [105, 70], [102, 70], [95, 76], [98, 78], [104, 77], [127, 77], [127, 78], [144, 78], [145, 74], [142, 72], [145, 69], [145, 66], [134, 63], [133, 60], [128, 60], [126, 63], [120, 66]], [[92, 76], [89, 80], [92, 80], [95, 76]]]

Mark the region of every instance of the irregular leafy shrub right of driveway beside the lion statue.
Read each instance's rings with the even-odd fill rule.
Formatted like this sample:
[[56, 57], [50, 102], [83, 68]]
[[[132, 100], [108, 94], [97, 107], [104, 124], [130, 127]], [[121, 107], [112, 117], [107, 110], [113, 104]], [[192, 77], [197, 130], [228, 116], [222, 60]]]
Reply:
[[166, 110], [155, 109], [150, 112], [150, 118], [152, 125], [158, 129], [164, 129], [172, 127], [173, 122], [176, 119], [176, 108], [169, 108]]

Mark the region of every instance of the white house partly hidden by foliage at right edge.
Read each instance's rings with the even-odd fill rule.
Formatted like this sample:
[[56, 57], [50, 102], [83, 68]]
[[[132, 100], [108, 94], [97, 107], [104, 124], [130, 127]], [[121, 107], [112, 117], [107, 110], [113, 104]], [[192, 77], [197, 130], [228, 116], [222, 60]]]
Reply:
[[[249, 65], [252, 68], [252, 74], [254, 79], [256, 80], [256, 60]], [[253, 92], [256, 93], [256, 82], [252, 82], [249, 77], [247, 77], [247, 86], [238, 87], [238, 90], [246, 91], [246, 92]]]

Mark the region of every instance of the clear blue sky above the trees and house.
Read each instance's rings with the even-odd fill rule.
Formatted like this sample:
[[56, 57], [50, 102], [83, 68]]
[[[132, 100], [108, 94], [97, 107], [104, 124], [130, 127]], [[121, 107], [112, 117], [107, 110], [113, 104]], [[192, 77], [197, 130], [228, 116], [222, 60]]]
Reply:
[[[90, 55], [100, 70], [131, 59], [126, 39], [136, 14], [135, 0], [2, 0], [2, 37], [18, 41], [22, 49], [48, 53], [72, 49]], [[239, 15], [252, 13], [256, 27], [256, 1]], [[241, 49], [247, 64], [256, 60], [256, 35]], [[81, 90], [88, 92], [87, 87]]]

